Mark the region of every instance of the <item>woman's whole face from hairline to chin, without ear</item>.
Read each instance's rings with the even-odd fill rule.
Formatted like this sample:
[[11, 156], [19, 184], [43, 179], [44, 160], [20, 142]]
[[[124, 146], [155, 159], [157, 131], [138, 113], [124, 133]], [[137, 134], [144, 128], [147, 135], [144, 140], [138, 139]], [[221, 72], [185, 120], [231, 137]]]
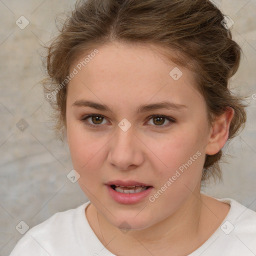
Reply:
[[200, 190], [205, 102], [192, 73], [152, 49], [104, 44], [81, 70], [84, 56], [70, 68], [78, 71], [66, 99], [73, 168], [88, 199], [117, 227], [156, 224]]

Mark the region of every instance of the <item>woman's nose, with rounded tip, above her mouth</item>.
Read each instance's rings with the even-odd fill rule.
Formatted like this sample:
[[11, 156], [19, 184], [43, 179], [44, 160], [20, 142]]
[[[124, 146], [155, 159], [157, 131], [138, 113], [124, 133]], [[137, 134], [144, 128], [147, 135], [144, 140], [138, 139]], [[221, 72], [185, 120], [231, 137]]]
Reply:
[[123, 131], [119, 127], [110, 141], [107, 161], [119, 170], [134, 169], [144, 161], [143, 145], [132, 127]]

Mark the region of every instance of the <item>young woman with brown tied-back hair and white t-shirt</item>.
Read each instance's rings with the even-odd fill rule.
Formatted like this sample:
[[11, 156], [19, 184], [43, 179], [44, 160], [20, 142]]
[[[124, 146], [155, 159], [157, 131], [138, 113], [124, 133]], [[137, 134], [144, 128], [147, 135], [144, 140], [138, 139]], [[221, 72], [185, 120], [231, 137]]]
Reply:
[[16, 255], [254, 255], [256, 213], [200, 192], [246, 120], [241, 49], [208, 0], [83, 0], [47, 54], [45, 97], [89, 201]]

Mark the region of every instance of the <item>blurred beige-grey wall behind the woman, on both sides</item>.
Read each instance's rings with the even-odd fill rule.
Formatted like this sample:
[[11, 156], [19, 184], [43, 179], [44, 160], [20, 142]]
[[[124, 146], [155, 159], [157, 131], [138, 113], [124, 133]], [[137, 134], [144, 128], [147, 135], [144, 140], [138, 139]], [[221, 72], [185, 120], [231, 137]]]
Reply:
[[[55, 15], [74, 0], [0, 0], [0, 256], [8, 255], [21, 234], [15, 226], [32, 227], [55, 212], [87, 201], [77, 183], [66, 175], [72, 169], [67, 145], [55, 139], [47, 120], [51, 109], [42, 86], [39, 43], [56, 31]], [[256, 93], [256, 1], [215, 1], [234, 20], [233, 39], [243, 49], [241, 65], [232, 78], [234, 92]], [[20, 29], [21, 16], [29, 24]], [[250, 97], [248, 122], [242, 133], [224, 148], [233, 155], [222, 164], [223, 182], [206, 184], [203, 192], [231, 197], [256, 210], [256, 100]], [[24, 118], [28, 127], [16, 123]]]

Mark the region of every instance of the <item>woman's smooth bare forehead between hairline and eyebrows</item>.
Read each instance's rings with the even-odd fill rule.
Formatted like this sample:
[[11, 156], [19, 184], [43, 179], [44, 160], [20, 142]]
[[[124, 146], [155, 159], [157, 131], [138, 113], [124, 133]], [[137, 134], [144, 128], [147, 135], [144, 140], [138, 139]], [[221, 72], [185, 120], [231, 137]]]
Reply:
[[68, 97], [130, 105], [164, 99], [179, 104], [198, 101], [193, 73], [160, 50], [148, 44], [111, 43], [97, 47], [96, 54], [86, 52], [70, 68], [77, 74], [68, 84]]

